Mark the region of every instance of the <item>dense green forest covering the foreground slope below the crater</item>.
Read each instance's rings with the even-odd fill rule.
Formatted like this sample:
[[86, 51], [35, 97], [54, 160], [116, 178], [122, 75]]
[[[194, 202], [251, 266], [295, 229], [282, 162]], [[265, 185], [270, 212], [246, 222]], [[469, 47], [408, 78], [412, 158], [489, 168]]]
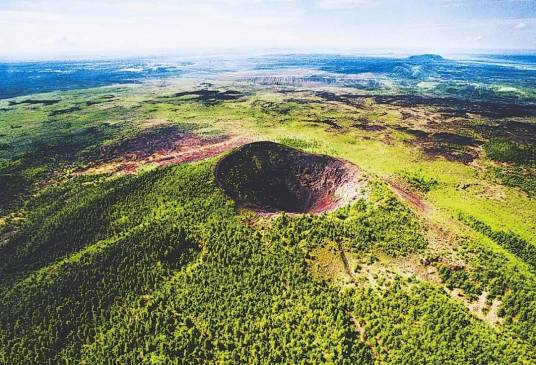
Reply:
[[532, 274], [511, 276], [498, 254], [495, 277], [468, 273], [468, 287], [491, 281], [523, 304], [504, 307], [501, 329], [415, 278], [372, 285], [353, 268], [341, 286], [311, 270], [315, 250], [338, 242], [366, 264], [426, 249], [420, 220], [386, 185], [372, 180], [366, 199], [330, 214], [252, 223], [217, 188], [214, 164], [82, 176], [30, 199], [0, 247], [0, 363], [535, 361]]

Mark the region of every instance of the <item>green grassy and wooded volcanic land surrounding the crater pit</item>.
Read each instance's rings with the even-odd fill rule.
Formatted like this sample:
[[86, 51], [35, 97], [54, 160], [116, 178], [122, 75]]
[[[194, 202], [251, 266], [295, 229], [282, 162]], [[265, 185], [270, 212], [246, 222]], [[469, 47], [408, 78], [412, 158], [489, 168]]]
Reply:
[[[534, 116], [212, 84], [0, 102], [0, 363], [536, 361]], [[213, 168], [257, 140], [361, 198], [240, 209]]]

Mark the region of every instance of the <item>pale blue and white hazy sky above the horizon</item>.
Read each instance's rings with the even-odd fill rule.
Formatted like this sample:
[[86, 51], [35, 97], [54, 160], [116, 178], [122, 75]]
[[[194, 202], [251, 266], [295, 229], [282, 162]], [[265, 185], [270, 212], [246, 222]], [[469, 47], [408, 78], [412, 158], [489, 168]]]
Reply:
[[536, 53], [536, 0], [0, 0], [0, 59], [226, 50]]

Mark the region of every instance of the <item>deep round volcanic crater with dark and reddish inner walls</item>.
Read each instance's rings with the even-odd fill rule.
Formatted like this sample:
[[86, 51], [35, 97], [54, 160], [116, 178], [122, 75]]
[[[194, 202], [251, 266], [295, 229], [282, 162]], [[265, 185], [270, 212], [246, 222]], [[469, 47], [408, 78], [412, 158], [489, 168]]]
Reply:
[[215, 177], [239, 205], [260, 212], [321, 213], [357, 197], [357, 168], [274, 142], [254, 142], [223, 157]]

